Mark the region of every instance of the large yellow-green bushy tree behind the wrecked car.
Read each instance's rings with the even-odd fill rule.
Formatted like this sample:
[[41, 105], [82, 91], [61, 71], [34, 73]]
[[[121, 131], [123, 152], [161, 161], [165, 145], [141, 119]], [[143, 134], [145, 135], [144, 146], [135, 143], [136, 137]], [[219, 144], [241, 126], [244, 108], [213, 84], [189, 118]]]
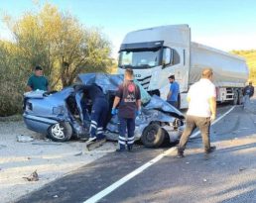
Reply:
[[97, 28], [86, 28], [53, 5], [26, 12], [20, 19], [4, 16], [13, 40], [0, 40], [0, 116], [21, 112], [28, 77], [44, 68], [51, 89], [72, 84], [80, 72], [109, 71], [111, 45]]

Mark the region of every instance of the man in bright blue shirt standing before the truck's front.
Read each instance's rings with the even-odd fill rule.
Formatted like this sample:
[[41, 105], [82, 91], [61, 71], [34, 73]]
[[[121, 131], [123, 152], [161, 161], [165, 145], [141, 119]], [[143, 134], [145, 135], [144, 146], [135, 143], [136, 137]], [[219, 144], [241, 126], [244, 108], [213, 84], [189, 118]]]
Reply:
[[170, 75], [168, 79], [171, 85], [169, 93], [167, 95], [167, 102], [175, 108], [178, 108], [180, 85], [178, 84], [178, 82], [175, 81], [175, 75]]

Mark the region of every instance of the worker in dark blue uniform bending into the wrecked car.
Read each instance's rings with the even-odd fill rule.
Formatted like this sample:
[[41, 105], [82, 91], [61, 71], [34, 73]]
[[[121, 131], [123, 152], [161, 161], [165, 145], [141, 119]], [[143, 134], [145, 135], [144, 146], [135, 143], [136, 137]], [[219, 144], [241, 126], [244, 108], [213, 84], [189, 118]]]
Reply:
[[103, 127], [106, 122], [107, 113], [108, 113], [108, 101], [102, 92], [102, 89], [96, 84], [86, 86], [83, 89], [85, 95], [92, 102], [92, 109], [90, 115], [90, 138], [89, 142], [96, 140], [102, 140], [105, 138], [103, 135]]

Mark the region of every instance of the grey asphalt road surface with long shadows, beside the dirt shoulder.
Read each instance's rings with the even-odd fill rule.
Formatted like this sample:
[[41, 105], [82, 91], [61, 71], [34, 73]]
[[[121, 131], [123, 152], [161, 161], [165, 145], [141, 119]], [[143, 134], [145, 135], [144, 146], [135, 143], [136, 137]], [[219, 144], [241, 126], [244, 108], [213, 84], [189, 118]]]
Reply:
[[[218, 117], [230, 106], [220, 106]], [[211, 128], [216, 152], [205, 157], [193, 139], [186, 157], [165, 155], [98, 202], [256, 202], [256, 102], [237, 106]], [[172, 148], [110, 153], [23, 197], [27, 202], [84, 202]]]

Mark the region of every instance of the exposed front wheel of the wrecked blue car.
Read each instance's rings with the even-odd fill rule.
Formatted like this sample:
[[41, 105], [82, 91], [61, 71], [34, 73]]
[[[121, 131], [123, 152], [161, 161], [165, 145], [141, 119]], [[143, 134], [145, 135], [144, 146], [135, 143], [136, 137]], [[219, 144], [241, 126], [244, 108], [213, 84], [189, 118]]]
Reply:
[[145, 147], [158, 148], [165, 140], [165, 131], [158, 124], [147, 126], [141, 137], [141, 142]]

